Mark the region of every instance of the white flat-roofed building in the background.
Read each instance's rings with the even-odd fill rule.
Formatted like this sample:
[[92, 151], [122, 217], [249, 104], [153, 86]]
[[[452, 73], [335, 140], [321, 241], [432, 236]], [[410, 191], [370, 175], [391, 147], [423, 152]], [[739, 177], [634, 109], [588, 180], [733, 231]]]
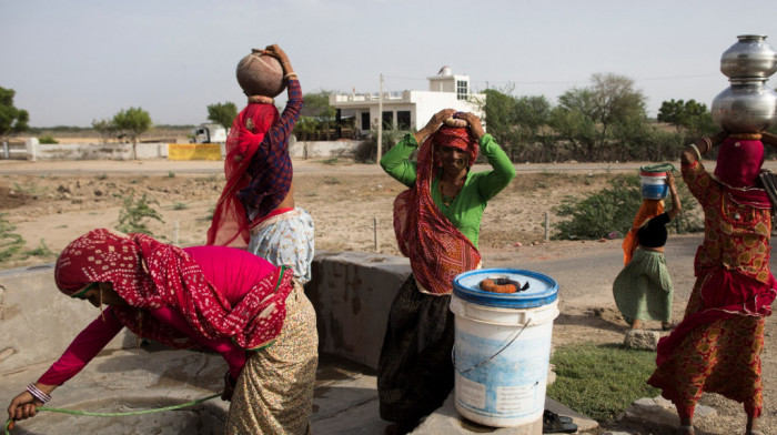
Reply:
[[[383, 92], [384, 128], [418, 130], [443, 109], [472, 112], [483, 119], [485, 94], [472, 93], [470, 75], [453, 74], [450, 67], [443, 67], [437, 75], [427, 79], [428, 91]], [[339, 111], [340, 118], [353, 118], [362, 133], [377, 127], [379, 94], [332, 94], [330, 105]]]

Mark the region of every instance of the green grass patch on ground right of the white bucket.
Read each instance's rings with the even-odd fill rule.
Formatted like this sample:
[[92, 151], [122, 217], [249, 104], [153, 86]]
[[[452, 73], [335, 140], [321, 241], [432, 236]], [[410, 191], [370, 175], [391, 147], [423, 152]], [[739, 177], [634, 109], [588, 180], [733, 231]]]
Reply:
[[556, 382], [547, 396], [598, 422], [614, 421], [637, 398], [659, 394], [646, 383], [656, 368], [655, 352], [581, 344], [555, 350], [551, 362]]

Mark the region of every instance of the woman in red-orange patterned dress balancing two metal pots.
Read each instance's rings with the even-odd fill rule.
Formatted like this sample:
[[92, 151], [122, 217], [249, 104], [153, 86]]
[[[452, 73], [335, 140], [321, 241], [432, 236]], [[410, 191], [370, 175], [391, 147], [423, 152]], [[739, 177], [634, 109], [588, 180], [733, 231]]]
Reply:
[[[704, 242], [696, 252], [694, 284], [683, 321], [658, 342], [648, 384], [677, 407], [680, 434], [694, 434], [696, 403], [705, 392], [744, 404], [746, 434], [759, 434], [765, 317], [777, 281], [769, 270], [771, 203], [758, 183], [769, 133], [703, 138], [682, 154], [683, 179], [704, 210]], [[714, 173], [702, 155], [718, 149]]]

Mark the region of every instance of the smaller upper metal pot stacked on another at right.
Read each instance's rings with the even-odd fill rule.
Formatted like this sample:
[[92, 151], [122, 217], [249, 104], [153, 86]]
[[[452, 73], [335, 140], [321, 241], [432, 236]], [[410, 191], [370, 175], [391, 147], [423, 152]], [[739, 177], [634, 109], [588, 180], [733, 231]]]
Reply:
[[720, 57], [720, 72], [729, 79], [768, 78], [777, 71], [777, 51], [765, 34], [740, 34]]

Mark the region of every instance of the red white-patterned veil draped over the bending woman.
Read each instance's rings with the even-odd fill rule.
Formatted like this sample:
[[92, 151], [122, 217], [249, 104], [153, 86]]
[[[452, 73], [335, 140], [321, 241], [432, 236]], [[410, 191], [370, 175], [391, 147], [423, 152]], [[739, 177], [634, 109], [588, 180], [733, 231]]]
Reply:
[[130, 304], [113, 306], [117, 318], [139, 336], [174, 347], [201, 347], [137, 308], [170, 306], [206, 338], [231, 337], [243, 348], [260, 347], [274, 338], [286, 315], [285, 299], [292, 273], [275, 269], [258, 281], [234, 306], [203, 275], [180, 247], [144, 234], [92, 230], [75, 239], [60, 254], [54, 281], [72, 295], [92, 282], [110, 282]]

